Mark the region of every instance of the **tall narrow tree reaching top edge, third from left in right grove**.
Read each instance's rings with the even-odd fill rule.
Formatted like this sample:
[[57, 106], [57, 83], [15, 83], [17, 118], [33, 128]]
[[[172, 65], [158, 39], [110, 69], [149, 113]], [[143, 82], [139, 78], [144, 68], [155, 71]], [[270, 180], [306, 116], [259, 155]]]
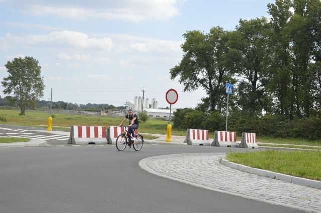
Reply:
[[271, 80], [267, 86], [275, 101], [274, 113], [292, 118], [290, 107], [292, 98], [289, 89], [291, 85], [291, 55], [290, 42], [286, 32], [286, 26], [292, 17], [291, 0], [276, 0], [275, 4], [268, 4], [269, 14], [272, 15], [272, 33], [269, 45], [273, 48], [273, 60], [271, 63]]

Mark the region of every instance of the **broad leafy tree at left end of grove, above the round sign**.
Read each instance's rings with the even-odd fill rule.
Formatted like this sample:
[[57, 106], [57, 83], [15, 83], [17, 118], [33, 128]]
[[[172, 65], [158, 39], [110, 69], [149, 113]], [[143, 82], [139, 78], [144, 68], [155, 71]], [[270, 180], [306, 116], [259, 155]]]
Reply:
[[223, 83], [232, 83], [226, 57], [228, 32], [221, 27], [213, 27], [208, 34], [194, 30], [186, 32], [183, 37], [183, 58], [170, 70], [171, 79], [179, 76], [184, 91], [203, 88], [209, 97], [205, 98], [209, 101], [209, 110], [220, 112], [225, 99]]

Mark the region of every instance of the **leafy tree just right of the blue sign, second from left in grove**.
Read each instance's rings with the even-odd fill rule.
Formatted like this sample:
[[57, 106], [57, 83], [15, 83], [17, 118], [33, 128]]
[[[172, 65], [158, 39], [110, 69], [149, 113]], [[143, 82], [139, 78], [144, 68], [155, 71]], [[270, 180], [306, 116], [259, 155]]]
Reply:
[[264, 86], [270, 68], [267, 45], [270, 30], [271, 24], [264, 17], [240, 20], [230, 37], [231, 48], [236, 51], [231, 54], [234, 72], [244, 79], [238, 86], [238, 105], [243, 110], [261, 113], [264, 107]]

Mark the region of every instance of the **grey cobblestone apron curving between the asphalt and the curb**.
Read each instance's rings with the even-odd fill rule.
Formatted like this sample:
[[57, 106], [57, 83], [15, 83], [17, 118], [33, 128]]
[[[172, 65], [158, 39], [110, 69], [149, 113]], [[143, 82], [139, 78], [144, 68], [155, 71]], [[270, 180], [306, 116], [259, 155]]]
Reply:
[[321, 212], [321, 190], [239, 171], [220, 163], [221, 153], [155, 156], [141, 168], [165, 178], [308, 212]]

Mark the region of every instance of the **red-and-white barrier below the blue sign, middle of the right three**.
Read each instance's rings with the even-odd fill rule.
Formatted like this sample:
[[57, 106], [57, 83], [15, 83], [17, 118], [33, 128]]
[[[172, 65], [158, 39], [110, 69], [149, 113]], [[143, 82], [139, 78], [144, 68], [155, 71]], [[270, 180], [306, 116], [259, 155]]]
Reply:
[[238, 147], [236, 143], [236, 132], [215, 131], [212, 146], [219, 147]]

